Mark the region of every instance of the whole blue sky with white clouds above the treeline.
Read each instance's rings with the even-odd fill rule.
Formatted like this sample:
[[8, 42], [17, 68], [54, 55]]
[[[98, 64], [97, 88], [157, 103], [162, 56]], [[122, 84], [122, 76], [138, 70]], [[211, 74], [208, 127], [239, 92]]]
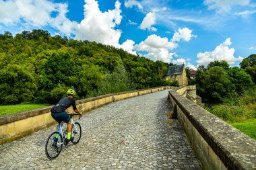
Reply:
[[195, 69], [256, 53], [256, 0], [0, 0], [0, 33], [48, 30]]

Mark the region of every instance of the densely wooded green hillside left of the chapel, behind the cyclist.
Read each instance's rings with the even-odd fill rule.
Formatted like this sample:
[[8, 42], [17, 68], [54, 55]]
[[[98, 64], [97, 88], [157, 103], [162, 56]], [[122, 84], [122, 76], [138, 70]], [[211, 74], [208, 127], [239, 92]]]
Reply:
[[[44, 30], [0, 34], [0, 105], [55, 103], [73, 87], [77, 99], [170, 85], [169, 64], [96, 42], [50, 36]], [[171, 65], [171, 64], [170, 64]]]

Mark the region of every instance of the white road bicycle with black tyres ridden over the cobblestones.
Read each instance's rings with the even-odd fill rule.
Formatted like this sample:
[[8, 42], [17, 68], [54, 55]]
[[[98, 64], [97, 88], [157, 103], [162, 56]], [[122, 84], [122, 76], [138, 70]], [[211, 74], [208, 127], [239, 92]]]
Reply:
[[[78, 122], [73, 122], [72, 117], [75, 115], [79, 114], [69, 114], [72, 124], [71, 136], [74, 137], [74, 140], [71, 140], [73, 144], [77, 144], [82, 135], [81, 125]], [[79, 119], [81, 117], [82, 115], [79, 115]], [[66, 128], [63, 128], [63, 124], [65, 124], [65, 122], [61, 122], [59, 124], [58, 131], [53, 132], [46, 140], [45, 153], [49, 159], [55, 159], [59, 156], [62, 151], [63, 144], [67, 146], [67, 130]]]

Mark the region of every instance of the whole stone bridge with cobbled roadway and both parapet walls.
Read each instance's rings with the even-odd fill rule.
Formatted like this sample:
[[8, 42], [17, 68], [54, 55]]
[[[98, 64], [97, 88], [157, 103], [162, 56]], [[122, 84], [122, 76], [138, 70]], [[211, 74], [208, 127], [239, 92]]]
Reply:
[[53, 161], [50, 108], [3, 116], [0, 169], [256, 169], [256, 140], [195, 104], [195, 86], [169, 89], [77, 101], [82, 139]]

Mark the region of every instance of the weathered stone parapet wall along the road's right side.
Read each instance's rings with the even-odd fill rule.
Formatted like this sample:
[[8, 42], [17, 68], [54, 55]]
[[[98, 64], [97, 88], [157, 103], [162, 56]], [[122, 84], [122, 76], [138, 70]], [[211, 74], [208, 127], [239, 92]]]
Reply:
[[256, 140], [184, 97], [183, 89], [170, 90], [170, 102], [201, 167], [256, 169]]

